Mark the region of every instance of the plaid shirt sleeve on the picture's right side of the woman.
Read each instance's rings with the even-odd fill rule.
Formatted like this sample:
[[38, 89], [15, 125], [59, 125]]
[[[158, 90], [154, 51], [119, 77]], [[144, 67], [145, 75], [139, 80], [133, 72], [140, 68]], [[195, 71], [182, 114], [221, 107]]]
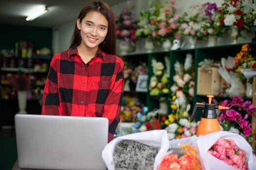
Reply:
[[119, 68], [115, 78], [115, 83], [113, 85], [113, 88], [110, 89], [103, 107], [102, 117], [108, 118], [109, 120], [108, 142], [110, 142], [113, 139], [114, 133], [116, 131], [116, 128], [118, 126], [118, 122], [120, 119], [120, 110], [121, 110], [121, 103], [122, 103], [122, 97], [123, 97], [123, 86], [124, 86], [123, 61], [121, 61], [119, 63]]

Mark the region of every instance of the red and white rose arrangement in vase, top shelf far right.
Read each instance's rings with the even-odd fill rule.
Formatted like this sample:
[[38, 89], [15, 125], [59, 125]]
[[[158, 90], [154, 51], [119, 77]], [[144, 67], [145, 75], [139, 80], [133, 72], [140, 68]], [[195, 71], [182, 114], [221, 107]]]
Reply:
[[242, 36], [242, 32], [250, 31], [251, 18], [245, 13], [245, 0], [224, 0], [219, 7], [217, 18], [219, 23], [228, 29], [231, 28], [233, 43], [237, 43], [237, 38]]

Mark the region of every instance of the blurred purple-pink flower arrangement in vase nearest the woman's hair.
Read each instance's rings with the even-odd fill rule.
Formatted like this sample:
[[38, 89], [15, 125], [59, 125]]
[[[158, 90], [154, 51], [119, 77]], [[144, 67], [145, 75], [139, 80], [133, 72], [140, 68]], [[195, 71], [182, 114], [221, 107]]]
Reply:
[[121, 40], [119, 48], [121, 55], [127, 52], [135, 51], [135, 42], [137, 37], [137, 22], [134, 18], [134, 9], [129, 7], [130, 0], [127, 0], [128, 7], [122, 9], [122, 13], [116, 16], [116, 35]]

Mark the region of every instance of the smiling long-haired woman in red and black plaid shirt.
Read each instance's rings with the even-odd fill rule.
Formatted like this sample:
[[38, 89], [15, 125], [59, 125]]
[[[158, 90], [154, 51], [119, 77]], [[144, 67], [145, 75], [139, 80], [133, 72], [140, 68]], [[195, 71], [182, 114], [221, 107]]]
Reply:
[[115, 55], [115, 17], [104, 2], [80, 11], [70, 49], [56, 54], [43, 93], [42, 115], [104, 117], [108, 141], [119, 122], [123, 61]]

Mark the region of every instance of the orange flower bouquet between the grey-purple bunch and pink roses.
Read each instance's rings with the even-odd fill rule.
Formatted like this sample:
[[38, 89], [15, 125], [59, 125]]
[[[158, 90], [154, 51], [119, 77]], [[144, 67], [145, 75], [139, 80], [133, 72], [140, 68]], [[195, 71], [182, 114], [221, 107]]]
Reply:
[[158, 170], [201, 170], [196, 153], [197, 150], [190, 145], [172, 149], [163, 156]]

